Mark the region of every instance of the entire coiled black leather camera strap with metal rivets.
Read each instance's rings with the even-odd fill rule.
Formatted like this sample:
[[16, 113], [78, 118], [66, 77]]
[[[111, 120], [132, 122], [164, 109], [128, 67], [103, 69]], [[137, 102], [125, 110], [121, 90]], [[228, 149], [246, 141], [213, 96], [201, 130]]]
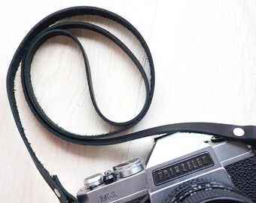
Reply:
[[[121, 26], [130, 30], [133, 35], [136, 36], [139, 43], [145, 50], [149, 68], [150, 75], [146, 74], [145, 67], [139, 62], [139, 60], [134, 56], [134, 54], [130, 51], [122, 41], [112, 35], [105, 29], [102, 29], [99, 26], [96, 26], [91, 23], [85, 22], [62, 22], [69, 17], [81, 16], [81, 15], [94, 15], [99, 17], [107, 18], [108, 20], [113, 20], [116, 23], [119, 23]], [[109, 38], [113, 41], [117, 46], [119, 46], [127, 56], [132, 59], [133, 63], [139, 69], [140, 74], [144, 80], [145, 89], [146, 89], [146, 99], [145, 104], [142, 108], [142, 111], [134, 117], [132, 120], [123, 123], [116, 123], [114, 121], [108, 120], [102, 112], [99, 110], [96, 104], [96, 98], [93, 94], [93, 83], [90, 77], [90, 66], [87, 59], [87, 54], [84, 52], [83, 46], [78, 40], [78, 38], [69, 31], [69, 29], [88, 29], [93, 32], [97, 32], [100, 35]], [[81, 53], [84, 57], [84, 67], [86, 69], [87, 74], [87, 82], [90, 89], [90, 97], [93, 103], [96, 112], [102, 117], [103, 120], [110, 123], [113, 126], [119, 126], [117, 131], [108, 132], [103, 135], [76, 135], [72, 132], [68, 132], [65, 129], [57, 126], [56, 123], [53, 123], [49, 117], [44, 113], [43, 109], [38, 104], [37, 99], [35, 98], [35, 94], [32, 88], [32, 82], [30, 77], [30, 69], [33, 56], [44, 43], [50, 38], [53, 38], [57, 35], [64, 35], [68, 38], [72, 38], [76, 44], [80, 47]], [[74, 8], [66, 8], [61, 11], [57, 11], [49, 16], [45, 17], [41, 20], [37, 25], [35, 25], [29, 33], [23, 38], [23, 41], [20, 43], [20, 46], [17, 48], [16, 53], [11, 61], [10, 67], [8, 69], [7, 76], [7, 89], [8, 89], [8, 98], [11, 105], [11, 111], [14, 115], [14, 120], [17, 125], [17, 129], [20, 132], [21, 137], [23, 138], [24, 143], [26, 144], [27, 149], [29, 150], [30, 155], [32, 156], [33, 161], [35, 162], [38, 171], [40, 171], [41, 175], [44, 177], [46, 182], [49, 184], [51, 189], [55, 192], [56, 196], [59, 198], [59, 201], [64, 202], [78, 202], [77, 199], [69, 194], [66, 189], [63, 188], [62, 184], [59, 182], [59, 179], [56, 175], [50, 175], [49, 172], [44, 168], [39, 159], [35, 156], [32, 147], [29, 144], [28, 139], [26, 138], [26, 134], [24, 132], [19, 111], [17, 109], [17, 101], [15, 98], [15, 88], [14, 82], [17, 74], [18, 68], [21, 67], [21, 80], [23, 85], [23, 92], [26, 98], [26, 102], [38, 121], [53, 135], [58, 136], [66, 141], [70, 141], [76, 144], [84, 144], [84, 145], [106, 145], [106, 144], [118, 144], [125, 141], [132, 141], [138, 138], [144, 138], [150, 135], [160, 135], [160, 134], [172, 134], [175, 132], [197, 132], [203, 133], [206, 135], [217, 135], [229, 140], [237, 140], [242, 141], [248, 144], [255, 144], [256, 142], [256, 126], [233, 126], [226, 125], [220, 123], [177, 123], [170, 124], [166, 126], [158, 126], [151, 129], [145, 129], [141, 132], [133, 132], [130, 134], [116, 136], [120, 132], [124, 132], [127, 129], [130, 129], [136, 123], [138, 123], [148, 111], [149, 106], [151, 105], [151, 100], [154, 93], [154, 64], [153, 59], [151, 57], [150, 50], [145, 40], [142, 38], [142, 35], [131, 25], [127, 20], [118, 16], [117, 14], [111, 13], [110, 11], [105, 11], [101, 8], [93, 8], [93, 7], [74, 7]], [[115, 135], [113, 137], [113, 135]], [[239, 136], [238, 136], [239, 135]]]

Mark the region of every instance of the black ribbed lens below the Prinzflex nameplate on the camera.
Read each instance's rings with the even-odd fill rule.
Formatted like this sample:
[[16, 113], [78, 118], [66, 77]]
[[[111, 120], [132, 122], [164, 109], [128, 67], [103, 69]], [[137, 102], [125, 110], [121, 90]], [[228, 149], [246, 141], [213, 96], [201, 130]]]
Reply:
[[166, 198], [165, 203], [253, 203], [233, 186], [210, 179], [182, 183]]

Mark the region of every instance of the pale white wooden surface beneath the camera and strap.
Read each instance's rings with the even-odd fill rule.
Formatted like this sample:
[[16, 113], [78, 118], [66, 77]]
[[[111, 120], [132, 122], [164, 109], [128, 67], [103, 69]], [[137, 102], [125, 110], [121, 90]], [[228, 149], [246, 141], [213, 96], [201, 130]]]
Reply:
[[[142, 33], [151, 49], [156, 71], [154, 99], [148, 114], [133, 131], [190, 121], [256, 124], [255, 1], [6, 1], [0, 7], [2, 202], [58, 202], [17, 132], [5, 78], [14, 51], [29, 29], [48, 14], [75, 5], [105, 8], [126, 18]], [[102, 111], [113, 120], [133, 117], [145, 93], [138, 71], [109, 41], [92, 33], [81, 34], [87, 36], [81, 41], [88, 53]], [[129, 37], [123, 29], [117, 29], [116, 35]], [[142, 54], [133, 38], [129, 37], [127, 43], [138, 56]], [[66, 38], [53, 38], [45, 43], [32, 65], [35, 94], [60, 126], [87, 134], [108, 131], [109, 127], [99, 120], [90, 104], [80, 54]], [[140, 57], [143, 61], [143, 56]], [[54, 137], [29, 111], [19, 77], [17, 101], [35, 152], [73, 195], [84, 177], [133, 156], [145, 160], [151, 148], [152, 138], [84, 147]], [[175, 150], [185, 144], [184, 141]]]

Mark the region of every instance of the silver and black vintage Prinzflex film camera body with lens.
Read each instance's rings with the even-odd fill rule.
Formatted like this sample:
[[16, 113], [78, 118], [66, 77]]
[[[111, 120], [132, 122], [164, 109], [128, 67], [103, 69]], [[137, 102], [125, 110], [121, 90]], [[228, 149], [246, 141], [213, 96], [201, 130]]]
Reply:
[[145, 167], [136, 158], [87, 177], [79, 203], [256, 201], [254, 147], [196, 138], [189, 133], [157, 138]]

